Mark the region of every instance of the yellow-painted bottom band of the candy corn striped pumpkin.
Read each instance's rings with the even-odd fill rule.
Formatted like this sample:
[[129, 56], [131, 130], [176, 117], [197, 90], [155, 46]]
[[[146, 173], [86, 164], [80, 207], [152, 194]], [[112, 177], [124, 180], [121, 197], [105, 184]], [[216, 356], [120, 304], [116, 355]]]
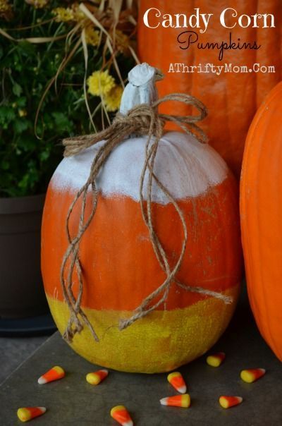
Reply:
[[[132, 312], [84, 308], [100, 341], [85, 327], [71, 347], [90, 363], [125, 372], [166, 372], [207, 352], [226, 329], [235, 309], [239, 286], [224, 292], [234, 302], [226, 305], [207, 298], [176, 310], [157, 310], [123, 331], [118, 321]], [[68, 322], [66, 303], [47, 296], [56, 325], [63, 334]]]

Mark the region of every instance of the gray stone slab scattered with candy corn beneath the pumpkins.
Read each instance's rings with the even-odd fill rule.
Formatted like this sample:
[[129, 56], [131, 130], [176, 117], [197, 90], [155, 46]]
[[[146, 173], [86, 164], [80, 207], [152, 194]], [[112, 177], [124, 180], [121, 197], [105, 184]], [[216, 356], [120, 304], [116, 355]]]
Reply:
[[[22, 424], [16, 417], [20, 406], [46, 406], [47, 413], [34, 420], [46, 426], [114, 426], [109, 411], [125, 405], [140, 426], [281, 426], [282, 365], [259, 335], [246, 303], [241, 303], [230, 327], [213, 351], [225, 351], [219, 368], [209, 367], [205, 357], [181, 367], [192, 405], [188, 409], [160, 406], [159, 399], [176, 394], [166, 374], [136, 375], [111, 371], [94, 387], [85, 381], [97, 366], [76, 355], [58, 333], [0, 387], [1, 426]], [[46, 385], [37, 378], [59, 364], [64, 379]], [[240, 379], [240, 370], [264, 367], [266, 375], [253, 384]], [[220, 395], [243, 396], [240, 406], [224, 410]], [[33, 423], [32, 423], [33, 424]]]

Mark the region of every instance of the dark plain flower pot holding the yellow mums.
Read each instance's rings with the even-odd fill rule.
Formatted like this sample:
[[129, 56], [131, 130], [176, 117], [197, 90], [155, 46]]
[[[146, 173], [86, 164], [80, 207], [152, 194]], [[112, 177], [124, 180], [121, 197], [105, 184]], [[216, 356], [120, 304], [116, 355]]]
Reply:
[[48, 312], [40, 272], [45, 195], [0, 198], [0, 317]]

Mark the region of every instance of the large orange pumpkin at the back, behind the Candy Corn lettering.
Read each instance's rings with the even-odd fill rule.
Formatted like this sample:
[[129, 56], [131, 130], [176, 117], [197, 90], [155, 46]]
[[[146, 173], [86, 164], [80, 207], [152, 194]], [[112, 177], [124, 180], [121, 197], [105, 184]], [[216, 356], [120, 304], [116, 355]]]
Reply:
[[[224, 28], [219, 17], [225, 8], [234, 8], [237, 11], [237, 20], [226, 13], [226, 24], [229, 26], [238, 22], [239, 16], [254, 15], [255, 13], [272, 13], [275, 18], [276, 28], [241, 28], [238, 23], [232, 28]], [[147, 28], [143, 22], [145, 11], [149, 8], [157, 8], [161, 14], [184, 13], [190, 16], [195, 14], [195, 8], [200, 8], [200, 13], [213, 13], [209, 20], [207, 30], [204, 33], [197, 28]], [[152, 16], [153, 13], [150, 14]], [[140, 0], [138, 23], [138, 50], [141, 61], [152, 63], [160, 68], [166, 78], [159, 83], [159, 95], [164, 96], [171, 92], [189, 93], [200, 99], [208, 108], [209, 116], [202, 123], [202, 128], [209, 136], [209, 143], [215, 148], [221, 157], [225, 159], [236, 176], [240, 176], [241, 163], [247, 130], [252, 118], [262, 99], [281, 80], [281, 0], [235, 0], [235, 1], [188, 1], [174, 0], [163, 1]], [[157, 25], [160, 18], [149, 18], [150, 25]], [[246, 18], [243, 25], [246, 25]], [[194, 20], [195, 23], [195, 20]], [[270, 25], [270, 21], [268, 23]], [[202, 25], [203, 29], [203, 25]], [[190, 45], [188, 49], [180, 49], [178, 35], [185, 30], [197, 32], [197, 42], [229, 42], [232, 32], [233, 42], [257, 41], [261, 47], [258, 50], [237, 49], [226, 50], [222, 61], [219, 60], [219, 50], [198, 49], [197, 43]], [[187, 38], [183, 35], [181, 41]], [[193, 36], [195, 37], [195, 36]], [[181, 44], [185, 47], [186, 44]], [[267, 71], [252, 73], [168, 73], [173, 63], [185, 66], [198, 66], [212, 63], [214, 66], [224, 66], [225, 63], [233, 66], [247, 66], [250, 69], [255, 63], [260, 66], [274, 66], [275, 73]], [[182, 69], [182, 68], [181, 68]], [[266, 72], [265, 72], [266, 71]], [[167, 104], [161, 109], [166, 114], [188, 114], [189, 107], [182, 104]], [[171, 129], [171, 125], [168, 126]]]

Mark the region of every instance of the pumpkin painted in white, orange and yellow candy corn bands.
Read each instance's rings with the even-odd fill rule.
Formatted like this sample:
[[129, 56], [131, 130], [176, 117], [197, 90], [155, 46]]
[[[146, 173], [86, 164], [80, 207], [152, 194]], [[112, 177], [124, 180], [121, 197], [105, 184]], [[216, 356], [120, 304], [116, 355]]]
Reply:
[[[130, 84], [130, 83], [129, 83]], [[134, 85], [134, 90], [138, 84]], [[142, 95], [147, 93], [140, 87]], [[155, 90], [151, 90], [150, 96]], [[135, 93], [134, 99], [138, 99]], [[134, 99], [131, 99], [134, 104]], [[143, 99], [144, 100], [144, 99]], [[130, 104], [126, 99], [121, 105]], [[212, 147], [192, 135], [166, 133], [154, 164], [157, 177], [177, 200], [188, 228], [188, 245], [177, 278], [189, 286], [231, 296], [226, 304], [213, 296], [171, 285], [166, 303], [120, 331], [128, 317], [165, 279], [140, 210], [139, 182], [147, 137], [116, 147], [97, 179], [97, 211], [80, 242], [85, 280], [82, 308], [100, 341], [88, 329], [71, 346], [92, 363], [127, 372], [164, 372], [205, 353], [226, 329], [235, 309], [241, 276], [238, 194], [235, 179]], [[61, 261], [68, 241], [66, 216], [103, 142], [63, 159], [49, 184], [42, 223], [42, 274], [51, 313], [63, 333], [68, 307], [60, 285]], [[87, 195], [90, 209], [91, 193]], [[76, 229], [81, 205], [71, 215]], [[87, 213], [87, 212], [86, 212]], [[152, 216], [169, 262], [181, 250], [178, 214], [156, 185]], [[78, 282], [73, 286], [78, 291]]]

